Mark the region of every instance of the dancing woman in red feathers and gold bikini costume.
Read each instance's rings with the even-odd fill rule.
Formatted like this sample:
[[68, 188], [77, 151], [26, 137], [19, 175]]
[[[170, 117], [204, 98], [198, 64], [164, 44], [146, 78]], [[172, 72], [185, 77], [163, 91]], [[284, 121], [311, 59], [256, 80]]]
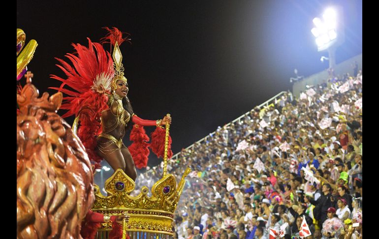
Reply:
[[[164, 116], [162, 120], [143, 120], [134, 114], [130, 101], [127, 98], [128, 84], [124, 76], [120, 44], [128, 41], [117, 28], [105, 28], [108, 34], [101, 40], [114, 46], [112, 57], [101, 44], [92, 42], [89, 38], [89, 47], [72, 44], [75, 54], [67, 54], [73, 67], [61, 59], [56, 58], [62, 65], [67, 78], [56, 75], [51, 77], [62, 81], [62, 85], [51, 87], [68, 95], [62, 109], [67, 109], [62, 117], [75, 115], [74, 131], [86, 147], [87, 153], [96, 168], [99, 162], [105, 159], [113, 170], [122, 169], [135, 181], [137, 172], [147, 166], [149, 149], [157, 156], [163, 155], [164, 130], [160, 125], [171, 123], [171, 118]], [[129, 36], [129, 35], [127, 35]], [[113, 58], [113, 60], [112, 60]], [[72, 88], [63, 88], [65, 85]], [[80, 127], [78, 124], [80, 122]], [[127, 148], [123, 137], [131, 122], [134, 123], [130, 133], [133, 143]], [[128, 127], [129, 126], [129, 127]], [[152, 141], [148, 143], [143, 126], [157, 126], [152, 134]], [[172, 156], [169, 138], [168, 156]]]

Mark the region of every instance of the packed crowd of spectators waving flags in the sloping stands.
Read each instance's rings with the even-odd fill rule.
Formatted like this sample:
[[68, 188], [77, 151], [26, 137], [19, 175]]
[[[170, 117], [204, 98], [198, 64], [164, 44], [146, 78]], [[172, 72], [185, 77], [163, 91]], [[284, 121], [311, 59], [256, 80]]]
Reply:
[[255, 107], [169, 165], [192, 169], [174, 238], [361, 238], [362, 71]]

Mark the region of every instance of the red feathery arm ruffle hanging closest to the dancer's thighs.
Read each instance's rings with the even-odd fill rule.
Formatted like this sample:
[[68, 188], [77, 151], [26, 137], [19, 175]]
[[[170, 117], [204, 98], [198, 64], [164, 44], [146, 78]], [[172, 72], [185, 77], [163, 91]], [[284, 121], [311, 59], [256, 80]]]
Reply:
[[149, 137], [143, 126], [135, 124], [130, 132], [130, 140], [133, 143], [128, 147], [128, 150], [133, 157], [135, 167], [137, 169], [146, 168], [147, 161], [149, 160]]

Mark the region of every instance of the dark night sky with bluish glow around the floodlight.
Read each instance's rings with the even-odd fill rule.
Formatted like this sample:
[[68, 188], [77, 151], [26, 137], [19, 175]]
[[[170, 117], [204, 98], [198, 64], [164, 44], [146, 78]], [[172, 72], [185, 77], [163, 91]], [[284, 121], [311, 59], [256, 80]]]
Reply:
[[312, 19], [336, 3], [345, 18], [338, 64], [362, 53], [361, 0], [17, 0], [17, 28], [27, 42], [38, 42], [28, 68], [39, 92], [50, 94], [55, 91], [47, 88], [60, 82], [49, 75], [63, 76], [54, 57], [72, 53], [72, 42], [88, 46], [86, 37], [98, 41], [106, 34], [102, 27], [131, 34], [132, 44], [121, 45], [128, 97], [141, 118], [171, 114], [175, 154], [292, 90], [294, 68], [304, 76], [328, 68], [319, 60], [327, 53], [317, 52]]

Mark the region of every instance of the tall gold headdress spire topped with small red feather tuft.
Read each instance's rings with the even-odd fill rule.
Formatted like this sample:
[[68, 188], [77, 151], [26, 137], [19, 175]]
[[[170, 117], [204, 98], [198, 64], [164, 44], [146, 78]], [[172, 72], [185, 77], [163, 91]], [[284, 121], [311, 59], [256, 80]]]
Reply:
[[127, 79], [124, 76], [124, 65], [122, 63], [123, 55], [121, 54], [121, 51], [120, 51], [120, 45], [125, 40], [130, 42], [130, 39], [127, 38], [130, 36], [130, 34], [126, 33], [126, 37], [123, 38], [123, 33], [115, 27], [113, 27], [112, 29], [109, 29], [106, 27], [104, 29], [107, 30], [109, 33], [105, 37], [101, 38], [100, 40], [102, 41], [102, 43], [111, 43], [114, 46], [112, 58], [113, 58], [113, 67], [115, 69], [115, 76], [113, 77], [113, 80], [111, 83], [112, 91], [114, 91], [117, 88], [116, 86], [117, 80], [122, 80], [124, 81], [124, 83], [127, 83]]

